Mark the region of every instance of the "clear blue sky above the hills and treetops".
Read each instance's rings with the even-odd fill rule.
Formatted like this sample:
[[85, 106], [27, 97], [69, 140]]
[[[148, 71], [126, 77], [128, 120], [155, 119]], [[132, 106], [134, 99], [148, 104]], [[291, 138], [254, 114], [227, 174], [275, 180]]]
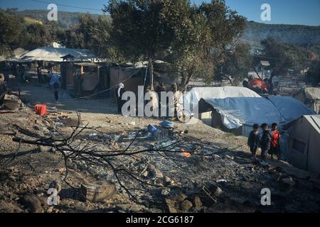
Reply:
[[[191, 0], [196, 4], [201, 4], [203, 1], [210, 0]], [[320, 0], [225, 0], [225, 2], [230, 9], [247, 17], [248, 21], [320, 26]], [[18, 8], [18, 10], [46, 9], [48, 3], [57, 4], [58, 11], [102, 13], [101, 9], [104, 4], [108, 4], [108, 0], [0, 0], [0, 7]], [[261, 20], [262, 4], [270, 5], [271, 21]]]

